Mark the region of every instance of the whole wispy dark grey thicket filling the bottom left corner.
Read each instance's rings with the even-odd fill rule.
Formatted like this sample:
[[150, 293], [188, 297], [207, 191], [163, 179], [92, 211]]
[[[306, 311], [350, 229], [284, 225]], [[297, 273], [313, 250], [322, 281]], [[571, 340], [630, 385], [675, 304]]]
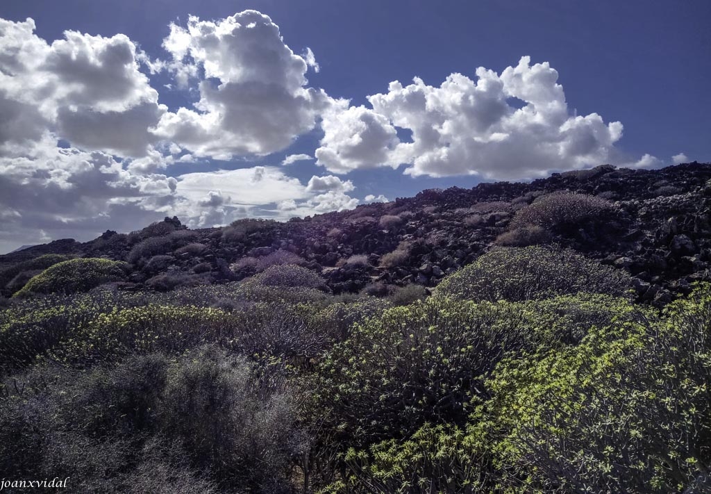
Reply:
[[294, 492], [304, 435], [275, 377], [215, 347], [38, 368], [0, 399], [0, 469], [70, 477], [73, 492]]

